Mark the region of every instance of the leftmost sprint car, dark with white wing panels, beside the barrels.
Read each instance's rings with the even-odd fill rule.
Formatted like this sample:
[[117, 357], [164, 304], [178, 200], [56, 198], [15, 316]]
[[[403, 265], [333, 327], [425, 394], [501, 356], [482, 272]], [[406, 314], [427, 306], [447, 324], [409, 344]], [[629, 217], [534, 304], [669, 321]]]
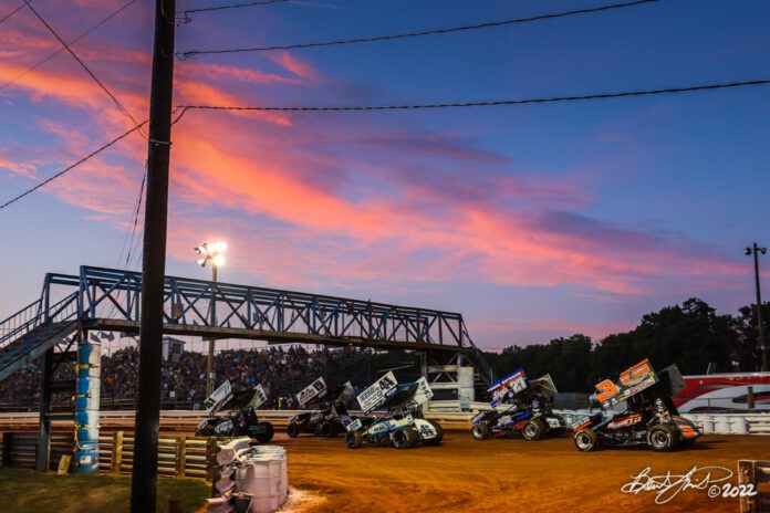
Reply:
[[195, 430], [199, 437], [236, 438], [251, 437], [261, 443], [273, 438], [273, 426], [260, 422], [257, 408], [267, 400], [261, 385], [252, 390], [233, 392], [230, 381], [225, 381], [206, 399], [208, 418]]

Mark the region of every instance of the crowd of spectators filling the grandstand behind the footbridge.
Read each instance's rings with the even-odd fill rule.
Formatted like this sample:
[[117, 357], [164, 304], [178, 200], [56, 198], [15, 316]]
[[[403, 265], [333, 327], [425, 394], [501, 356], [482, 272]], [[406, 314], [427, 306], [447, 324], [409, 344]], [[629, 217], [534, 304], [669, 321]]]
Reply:
[[[214, 357], [214, 388], [229, 380], [235, 390], [257, 385], [271, 401], [269, 407], [290, 408], [295, 392], [319, 376], [327, 380], [344, 379], [344, 368], [355, 367], [368, 352], [353, 347], [308, 349], [301, 345], [272, 346], [262, 349], [228, 349]], [[168, 355], [160, 370], [164, 407], [202, 408], [206, 399], [208, 356], [181, 350]], [[133, 408], [138, 390], [139, 352], [135, 345], [122, 347], [101, 358], [101, 404], [103, 409]], [[62, 364], [53, 380], [73, 380], [76, 364]], [[28, 365], [0, 381], [0, 408], [37, 410], [40, 402], [42, 368]], [[53, 406], [72, 405], [74, 391], [54, 394]]]

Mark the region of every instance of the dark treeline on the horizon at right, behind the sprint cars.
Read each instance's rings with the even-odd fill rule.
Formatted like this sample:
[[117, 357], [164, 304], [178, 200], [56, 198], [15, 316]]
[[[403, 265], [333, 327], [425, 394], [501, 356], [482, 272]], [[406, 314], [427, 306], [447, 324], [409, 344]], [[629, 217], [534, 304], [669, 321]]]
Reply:
[[[763, 303], [768, 333], [770, 303]], [[502, 353], [485, 353], [498, 377], [523, 367], [531, 378], [550, 374], [559, 391], [590, 392], [602, 378], [649, 358], [654, 368], [676, 364], [681, 374], [759, 370], [756, 305], [743, 306], [738, 316], [718, 315], [706, 302], [690, 299], [642, 317], [628, 333], [593, 343], [575, 334], [548, 344], [511, 346]], [[735, 364], [733, 364], [735, 363]], [[737, 365], [736, 365], [737, 364]]]

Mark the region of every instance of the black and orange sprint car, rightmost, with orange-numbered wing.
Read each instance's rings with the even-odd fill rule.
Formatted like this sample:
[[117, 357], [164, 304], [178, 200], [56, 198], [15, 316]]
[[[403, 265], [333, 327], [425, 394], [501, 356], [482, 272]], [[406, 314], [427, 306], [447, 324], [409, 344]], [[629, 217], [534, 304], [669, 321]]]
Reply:
[[683, 385], [675, 365], [656, 374], [648, 359], [622, 373], [617, 381], [601, 381], [596, 399], [602, 408], [626, 401], [626, 409], [607, 419], [600, 411], [576, 422], [575, 447], [591, 451], [600, 446], [647, 446], [667, 452], [690, 446], [701, 435], [700, 429], [680, 417], [672, 401]]

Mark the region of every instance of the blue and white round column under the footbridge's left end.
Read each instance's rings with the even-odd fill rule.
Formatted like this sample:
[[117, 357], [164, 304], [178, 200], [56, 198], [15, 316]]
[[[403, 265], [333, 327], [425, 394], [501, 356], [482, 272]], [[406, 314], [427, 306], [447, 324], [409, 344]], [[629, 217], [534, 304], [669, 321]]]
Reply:
[[77, 344], [75, 380], [75, 473], [98, 472], [98, 408], [102, 380], [102, 345], [82, 331]]

